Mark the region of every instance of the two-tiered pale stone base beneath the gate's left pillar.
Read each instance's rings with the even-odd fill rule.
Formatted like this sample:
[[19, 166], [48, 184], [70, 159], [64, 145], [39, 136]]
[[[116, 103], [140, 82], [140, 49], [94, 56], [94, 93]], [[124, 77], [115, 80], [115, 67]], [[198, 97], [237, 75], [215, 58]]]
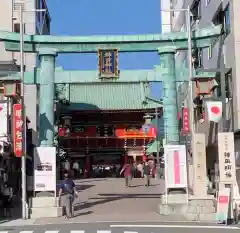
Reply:
[[29, 210], [30, 218], [63, 216], [63, 207], [59, 207], [59, 199], [56, 197], [34, 197]]

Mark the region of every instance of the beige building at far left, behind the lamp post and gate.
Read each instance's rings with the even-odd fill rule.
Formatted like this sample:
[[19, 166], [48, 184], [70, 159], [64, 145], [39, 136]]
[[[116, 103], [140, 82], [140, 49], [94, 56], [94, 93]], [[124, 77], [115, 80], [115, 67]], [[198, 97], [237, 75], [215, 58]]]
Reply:
[[[50, 15], [48, 12], [46, 0], [2, 0], [0, 7], [0, 29], [10, 32], [20, 33], [20, 4], [24, 10], [23, 23], [24, 33], [28, 35], [49, 34], [50, 33]], [[46, 10], [37, 12], [35, 10]], [[9, 52], [4, 49], [3, 42], [0, 42], [0, 70], [9, 75], [9, 71], [20, 70], [19, 52]], [[39, 58], [36, 54], [25, 53], [24, 66], [25, 71], [34, 71], [39, 64]], [[2, 74], [4, 75], [4, 74]], [[38, 131], [38, 93], [35, 85], [25, 86], [25, 105], [26, 114], [31, 121], [30, 129]], [[33, 111], [33, 110], [36, 111]], [[33, 135], [36, 133], [33, 133]], [[34, 144], [37, 143], [33, 136]]]

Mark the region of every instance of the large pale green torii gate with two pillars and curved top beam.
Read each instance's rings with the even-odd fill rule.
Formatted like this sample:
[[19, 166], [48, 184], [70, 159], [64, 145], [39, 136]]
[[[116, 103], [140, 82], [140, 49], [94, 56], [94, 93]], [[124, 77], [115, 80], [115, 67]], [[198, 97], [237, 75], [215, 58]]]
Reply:
[[[193, 32], [193, 47], [209, 47], [213, 40], [221, 34], [221, 27], [210, 27]], [[179, 122], [177, 119], [177, 81], [189, 81], [188, 78], [179, 80], [176, 72], [175, 53], [177, 50], [188, 49], [186, 32], [175, 32], [169, 34], [153, 35], [119, 35], [119, 36], [88, 36], [88, 37], [68, 37], [68, 36], [46, 36], [46, 35], [24, 35], [24, 52], [38, 53], [40, 56], [39, 72], [25, 73], [26, 84], [40, 85], [40, 114], [44, 114], [48, 121], [48, 126], [40, 122], [41, 146], [54, 145], [54, 98], [55, 84], [69, 84], [86, 82], [79, 80], [77, 75], [67, 71], [60, 71], [55, 68], [55, 58], [58, 53], [97, 53], [99, 49], [118, 49], [119, 52], [158, 52], [161, 58], [160, 66], [155, 70], [155, 75], [145, 77], [143, 80], [135, 82], [164, 82], [164, 119], [165, 127], [168, 130], [168, 142], [178, 144], [180, 140]], [[7, 51], [20, 51], [20, 35], [13, 32], [0, 31], [0, 40], [4, 42]], [[182, 67], [183, 68], [183, 67]], [[65, 72], [65, 73], [64, 73]], [[82, 71], [84, 72], [84, 71]], [[60, 74], [61, 75], [58, 75]], [[86, 74], [85, 75], [89, 75]], [[121, 74], [120, 74], [121, 77]], [[16, 75], [19, 79], [19, 75]], [[2, 79], [3, 80], [3, 79]], [[6, 78], [7, 80], [7, 78]], [[8, 79], [9, 80], [9, 79]], [[96, 81], [95, 82], [101, 82]], [[109, 81], [108, 81], [109, 82]], [[122, 77], [112, 82], [134, 82]], [[51, 127], [49, 128], [49, 125]]]

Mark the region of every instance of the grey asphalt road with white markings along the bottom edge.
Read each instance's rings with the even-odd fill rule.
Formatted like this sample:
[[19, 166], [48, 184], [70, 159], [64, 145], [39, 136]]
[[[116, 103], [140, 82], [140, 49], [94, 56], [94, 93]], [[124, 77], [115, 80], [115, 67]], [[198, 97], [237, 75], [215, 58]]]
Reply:
[[229, 233], [239, 232], [240, 228], [220, 225], [160, 224], [160, 223], [82, 223], [55, 224], [45, 226], [6, 227], [0, 233]]

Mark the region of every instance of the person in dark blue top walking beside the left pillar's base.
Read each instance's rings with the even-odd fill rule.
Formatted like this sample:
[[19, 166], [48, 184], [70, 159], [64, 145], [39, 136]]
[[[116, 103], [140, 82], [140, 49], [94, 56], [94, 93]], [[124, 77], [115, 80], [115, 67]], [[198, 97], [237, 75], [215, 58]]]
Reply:
[[65, 211], [66, 217], [72, 218], [74, 217], [74, 199], [78, 196], [77, 190], [75, 188], [75, 183], [71, 178], [69, 178], [68, 171], [64, 172], [64, 180], [60, 186], [59, 190], [59, 198], [61, 197], [62, 193], [65, 194]]

